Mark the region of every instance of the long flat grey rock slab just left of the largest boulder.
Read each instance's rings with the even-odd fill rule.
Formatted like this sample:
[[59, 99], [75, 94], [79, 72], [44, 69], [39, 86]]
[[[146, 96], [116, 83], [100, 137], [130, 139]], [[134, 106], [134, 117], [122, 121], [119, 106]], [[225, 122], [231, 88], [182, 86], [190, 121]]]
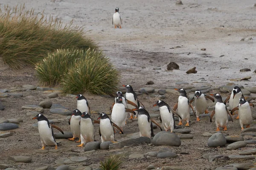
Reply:
[[142, 136], [136, 139], [128, 139], [125, 141], [117, 142], [109, 145], [109, 150], [120, 149], [124, 146], [130, 146], [132, 144], [150, 143], [151, 140], [148, 137]]

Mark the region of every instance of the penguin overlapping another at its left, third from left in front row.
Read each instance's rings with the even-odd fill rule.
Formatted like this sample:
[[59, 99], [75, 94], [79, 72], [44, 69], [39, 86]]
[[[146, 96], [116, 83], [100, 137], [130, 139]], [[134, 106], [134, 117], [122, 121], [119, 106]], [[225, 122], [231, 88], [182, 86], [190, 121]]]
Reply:
[[80, 131], [81, 144], [77, 147], [83, 147], [85, 143], [94, 141], [93, 120], [87, 112], [83, 112], [81, 115]]

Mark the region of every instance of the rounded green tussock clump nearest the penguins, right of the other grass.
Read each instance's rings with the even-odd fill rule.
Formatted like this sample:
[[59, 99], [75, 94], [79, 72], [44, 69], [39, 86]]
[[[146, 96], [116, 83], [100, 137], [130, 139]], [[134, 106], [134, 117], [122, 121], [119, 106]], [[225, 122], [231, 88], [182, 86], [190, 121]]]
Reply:
[[116, 91], [118, 82], [119, 74], [110, 59], [94, 49], [88, 49], [86, 57], [72, 65], [61, 79], [64, 94], [111, 95]]

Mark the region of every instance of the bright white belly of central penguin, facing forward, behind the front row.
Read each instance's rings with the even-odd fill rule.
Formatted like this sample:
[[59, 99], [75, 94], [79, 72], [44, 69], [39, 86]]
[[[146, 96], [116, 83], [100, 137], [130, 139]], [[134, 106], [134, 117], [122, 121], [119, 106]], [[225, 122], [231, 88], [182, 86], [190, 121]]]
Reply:
[[111, 121], [119, 126], [122, 130], [125, 127], [126, 113], [125, 106], [122, 103], [116, 103], [113, 106]]

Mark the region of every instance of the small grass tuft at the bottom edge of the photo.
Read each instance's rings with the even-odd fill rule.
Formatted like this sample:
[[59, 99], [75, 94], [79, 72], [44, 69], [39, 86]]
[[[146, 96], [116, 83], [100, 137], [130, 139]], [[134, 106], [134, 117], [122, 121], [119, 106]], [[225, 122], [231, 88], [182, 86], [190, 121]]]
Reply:
[[101, 170], [118, 170], [122, 161], [115, 155], [112, 155], [105, 159], [104, 161], [100, 161], [100, 169]]

